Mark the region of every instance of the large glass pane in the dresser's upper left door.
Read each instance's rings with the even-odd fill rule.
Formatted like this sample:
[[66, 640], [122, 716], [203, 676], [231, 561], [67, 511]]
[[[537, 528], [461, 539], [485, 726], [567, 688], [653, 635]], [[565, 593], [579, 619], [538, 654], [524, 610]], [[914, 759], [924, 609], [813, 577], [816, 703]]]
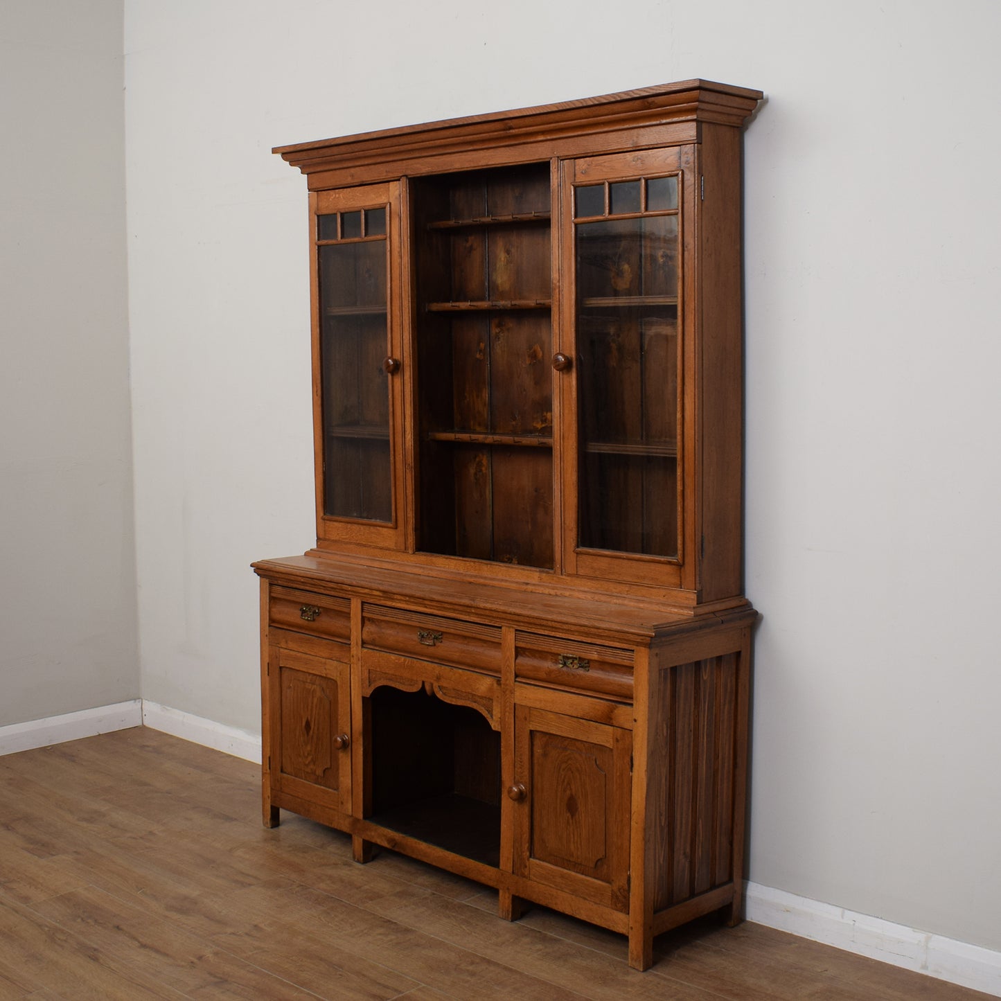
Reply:
[[[358, 217], [360, 213], [344, 213]], [[324, 514], [392, 521], [384, 240], [318, 248]]]

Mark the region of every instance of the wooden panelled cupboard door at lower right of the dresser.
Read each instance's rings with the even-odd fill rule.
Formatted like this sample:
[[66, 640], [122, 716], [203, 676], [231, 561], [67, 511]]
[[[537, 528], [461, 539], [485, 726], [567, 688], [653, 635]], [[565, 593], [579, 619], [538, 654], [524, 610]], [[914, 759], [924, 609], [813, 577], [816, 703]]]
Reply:
[[515, 871], [629, 907], [632, 734], [528, 706], [515, 717]]

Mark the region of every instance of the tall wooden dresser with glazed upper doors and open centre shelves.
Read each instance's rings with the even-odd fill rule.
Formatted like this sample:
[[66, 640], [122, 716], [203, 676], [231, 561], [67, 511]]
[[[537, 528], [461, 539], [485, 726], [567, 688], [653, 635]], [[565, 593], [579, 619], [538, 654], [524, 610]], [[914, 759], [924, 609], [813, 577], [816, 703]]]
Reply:
[[629, 936], [742, 913], [741, 133], [694, 80], [280, 147], [316, 546], [261, 578], [279, 808]]

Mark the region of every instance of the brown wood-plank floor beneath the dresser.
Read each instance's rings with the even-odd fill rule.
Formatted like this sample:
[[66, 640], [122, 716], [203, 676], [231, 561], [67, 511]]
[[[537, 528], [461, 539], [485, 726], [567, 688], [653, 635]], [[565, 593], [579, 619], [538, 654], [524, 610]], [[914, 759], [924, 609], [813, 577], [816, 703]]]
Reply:
[[259, 770], [153, 730], [0, 758], [0, 1001], [984, 998], [760, 925], [626, 940], [344, 835], [259, 821]]

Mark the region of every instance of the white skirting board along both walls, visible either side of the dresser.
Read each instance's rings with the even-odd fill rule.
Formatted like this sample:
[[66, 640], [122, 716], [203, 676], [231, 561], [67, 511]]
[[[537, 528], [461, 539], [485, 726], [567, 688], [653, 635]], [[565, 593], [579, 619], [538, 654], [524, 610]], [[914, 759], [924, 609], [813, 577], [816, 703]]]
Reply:
[[[0, 727], [0, 755], [147, 726], [260, 763], [260, 737], [144, 699]], [[749, 921], [1001, 997], [1001, 952], [747, 884]]]

